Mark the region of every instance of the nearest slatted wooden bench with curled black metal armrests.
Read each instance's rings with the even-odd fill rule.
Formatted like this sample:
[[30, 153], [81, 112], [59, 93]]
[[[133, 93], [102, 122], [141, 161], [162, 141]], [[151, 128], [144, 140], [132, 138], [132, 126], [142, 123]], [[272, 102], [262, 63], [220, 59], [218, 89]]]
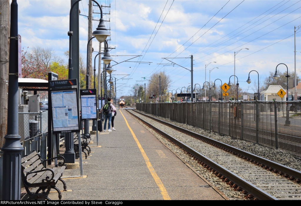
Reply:
[[[21, 159], [21, 178], [26, 192], [29, 195], [29, 199], [50, 200], [48, 194], [52, 188], [58, 192], [58, 198], [61, 200], [61, 191], [56, 187], [56, 183], [60, 180], [64, 184], [64, 191], [66, 191], [66, 183], [61, 178], [66, 168], [66, 166], [64, 166], [65, 158], [62, 156], [55, 158], [63, 159], [63, 162], [59, 162], [55, 168], [44, 168], [43, 162], [47, 160], [41, 159], [36, 151], [33, 151]], [[29, 191], [29, 187], [39, 187], [39, 189], [37, 189], [35, 193], [32, 193]]]

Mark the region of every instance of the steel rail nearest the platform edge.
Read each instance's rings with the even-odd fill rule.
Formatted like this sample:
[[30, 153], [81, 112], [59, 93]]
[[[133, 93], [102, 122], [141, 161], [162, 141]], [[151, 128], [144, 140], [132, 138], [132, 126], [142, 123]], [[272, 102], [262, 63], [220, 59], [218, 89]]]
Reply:
[[[127, 112], [129, 112], [129, 111], [127, 111]], [[137, 112], [137, 111], [135, 111], [135, 112]], [[141, 115], [144, 115], [140, 112], [138, 112], [138, 113], [141, 114]], [[134, 115], [133, 113], [130, 113], [130, 114]], [[203, 166], [205, 166], [206, 168], [209, 168], [211, 171], [214, 170], [214, 173], [218, 174], [219, 177], [223, 176], [224, 177], [223, 179], [228, 179], [230, 185], [233, 185], [238, 190], [244, 190], [244, 193], [251, 194], [251, 196], [248, 195], [248, 197], [253, 196], [255, 199], [260, 199], [260, 200], [278, 200], [277, 198], [273, 197], [272, 195], [264, 192], [263, 190], [259, 189], [258, 187], [254, 186], [253, 184], [247, 182], [246, 180], [244, 180], [241, 177], [237, 176], [236, 174], [232, 173], [231, 171], [224, 168], [220, 164], [217, 164], [216, 162], [214, 162], [211, 159], [207, 158], [206, 156], [200, 154], [199, 152], [197, 152], [196, 150], [194, 150], [191, 147], [187, 146], [186, 144], [178, 141], [177, 139], [170, 136], [169, 134], [166, 134], [164, 131], [156, 128], [153, 125], [151, 125], [147, 121], [144, 121], [143, 119], [139, 118], [136, 115], [134, 115], [134, 116], [136, 118], [138, 118], [140, 121], [142, 121], [145, 125], [151, 127], [152, 129], [157, 131], [159, 134], [161, 134], [164, 137], [168, 138], [169, 140], [171, 140], [172, 142], [174, 142], [175, 144], [180, 146], [182, 149], [186, 150], [188, 153], [193, 155], [195, 158], [202, 161], [202, 163], [204, 163], [204, 164], [202, 164]], [[147, 116], [147, 115], [144, 115], [144, 116]], [[153, 117], [150, 117], [150, 116], [147, 116], [147, 117], [153, 119]], [[154, 120], [157, 121], [156, 118], [154, 118]], [[160, 121], [160, 123], [163, 123], [163, 121]], [[164, 123], [166, 123], [166, 122], [164, 122]], [[173, 126], [175, 126], [175, 125], [173, 125]], [[177, 126], [175, 126], [175, 127], [177, 127]], [[227, 177], [227, 178], [225, 178], [225, 177]]]

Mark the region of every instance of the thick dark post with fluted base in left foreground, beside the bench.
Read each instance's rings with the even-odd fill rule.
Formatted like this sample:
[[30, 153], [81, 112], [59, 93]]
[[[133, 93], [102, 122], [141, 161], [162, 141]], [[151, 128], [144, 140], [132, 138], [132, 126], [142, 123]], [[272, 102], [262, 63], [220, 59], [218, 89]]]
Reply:
[[[11, 2], [11, 28], [9, 45], [8, 74], [8, 117], [7, 134], [3, 151], [2, 199], [20, 200], [21, 198], [21, 152], [18, 134], [18, 4]], [[21, 55], [21, 54], [20, 54]]]

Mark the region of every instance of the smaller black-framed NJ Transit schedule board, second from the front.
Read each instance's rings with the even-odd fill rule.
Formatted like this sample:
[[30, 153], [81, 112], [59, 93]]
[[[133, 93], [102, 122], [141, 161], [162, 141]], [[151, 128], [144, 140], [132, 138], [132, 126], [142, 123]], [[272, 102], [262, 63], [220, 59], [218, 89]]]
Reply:
[[81, 89], [81, 114], [82, 119], [97, 120], [96, 89]]

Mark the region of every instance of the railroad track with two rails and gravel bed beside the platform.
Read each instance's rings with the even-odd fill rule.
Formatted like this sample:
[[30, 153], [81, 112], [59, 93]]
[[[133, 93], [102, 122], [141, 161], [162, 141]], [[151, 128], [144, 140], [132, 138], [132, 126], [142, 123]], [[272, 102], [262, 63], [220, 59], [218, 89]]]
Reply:
[[[225, 143], [137, 112], [144, 124], [180, 146], [203, 167], [216, 174], [246, 198], [301, 200], [301, 172]], [[135, 114], [134, 114], [135, 113]], [[169, 127], [168, 132], [166, 126]], [[195, 143], [195, 138], [198, 141]], [[192, 143], [194, 142], [194, 143]]]

